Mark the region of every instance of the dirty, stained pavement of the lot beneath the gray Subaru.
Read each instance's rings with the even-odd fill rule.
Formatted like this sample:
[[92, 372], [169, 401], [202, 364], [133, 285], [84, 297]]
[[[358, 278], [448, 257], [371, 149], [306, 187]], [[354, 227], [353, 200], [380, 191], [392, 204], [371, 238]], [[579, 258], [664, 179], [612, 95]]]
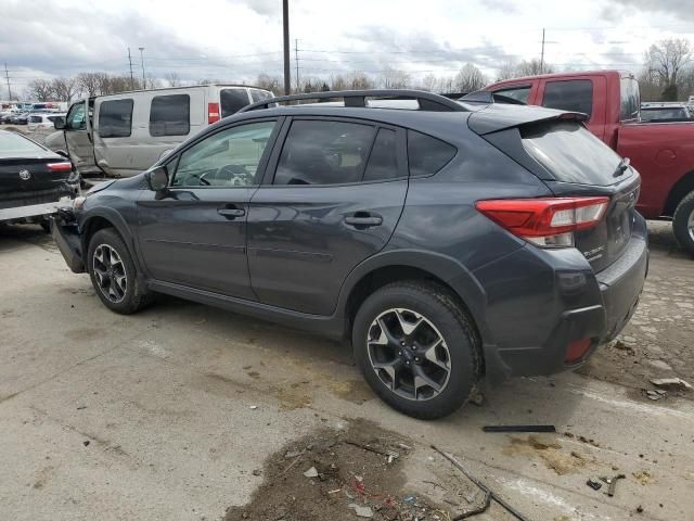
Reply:
[[[580, 373], [422, 422], [375, 398], [335, 343], [175, 298], [114, 315], [40, 228], [0, 227], [0, 519], [363, 519], [355, 504], [449, 520], [483, 495], [432, 444], [531, 520], [694, 519], [694, 392], [644, 394], [653, 377], [694, 383], [694, 260], [667, 225], [651, 231], [618, 343]], [[500, 423], [557, 433], [480, 429]], [[614, 497], [586, 484], [618, 473]]]

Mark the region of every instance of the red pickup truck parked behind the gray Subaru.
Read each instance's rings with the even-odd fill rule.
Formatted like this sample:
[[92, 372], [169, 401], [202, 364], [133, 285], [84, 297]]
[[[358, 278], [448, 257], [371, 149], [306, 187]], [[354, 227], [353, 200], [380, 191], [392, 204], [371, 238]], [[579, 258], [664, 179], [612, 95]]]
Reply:
[[639, 212], [648, 219], [672, 219], [678, 241], [694, 255], [694, 122], [642, 123], [639, 82], [619, 71], [514, 78], [485, 90], [588, 114], [590, 131], [641, 174]]

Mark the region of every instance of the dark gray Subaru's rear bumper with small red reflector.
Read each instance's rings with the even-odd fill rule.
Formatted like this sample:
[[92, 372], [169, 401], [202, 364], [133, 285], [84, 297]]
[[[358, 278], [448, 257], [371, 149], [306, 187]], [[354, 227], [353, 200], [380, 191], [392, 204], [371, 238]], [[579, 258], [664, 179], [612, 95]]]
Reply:
[[[502, 314], [493, 310], [489, 314], [489, 331], [497, 342], [485, 342], [484, 348], [487, 373], [492, 381], [575, 369], [601, 344], [619, 334], [635, 310], [648, 269], [645, 220], [640, 216], [638, 219], [627, 250], [605, 270], [597, 274], [581, 270], [581, 264], [587, 263], [579, 257], [574, 259], [576, 268], [571, 272], [563, 258], [558, 267], [544, 267], [543, 276], [550, 280], [553, 276], [555, 282], [552, 290], [548, 289], [537, 298], [542, 307], [515, 308], [511, 323]], [[535, 285], [549, 288], [550, 283], [538, 281]], [[587, 339], [590, 340], [588, 351], [579, 359], [567, 363], [569, 344]]]

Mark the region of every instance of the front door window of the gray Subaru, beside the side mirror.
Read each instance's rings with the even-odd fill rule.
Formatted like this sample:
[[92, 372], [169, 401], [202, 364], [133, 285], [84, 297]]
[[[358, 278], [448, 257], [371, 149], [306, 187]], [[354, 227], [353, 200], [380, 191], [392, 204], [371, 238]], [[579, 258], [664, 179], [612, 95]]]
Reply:
[[240, 125], [214, 134], [181, 154], [172, 187], [249, 187], [275, 122]]

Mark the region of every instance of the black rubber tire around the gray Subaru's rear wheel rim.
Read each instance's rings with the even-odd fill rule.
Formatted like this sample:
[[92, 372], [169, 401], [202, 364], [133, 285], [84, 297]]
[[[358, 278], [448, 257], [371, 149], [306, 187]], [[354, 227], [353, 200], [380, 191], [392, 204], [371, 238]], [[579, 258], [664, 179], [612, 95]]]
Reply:
[[[368, 339], [373, 334], [372, 328], [376, 328], [376, 331], [381, 329], [374, 321], [380, 316], [387, 317], [384, 314], [391, 313], [393, 309], [403, 308], [426, 318], [428, 325], [425, 327], [433, 326], [435, 332], [442, 336], [448, 350], [446, 355], [450, 368], [448, 379], [440, 392], [428, 398], [416, 399], [416, 390], [414, 398], [396, 393], [384, 382], [383, 373], [377, 373], [372, 365]], [[402, 281], [375, 291], [363, 302], [357, 313], [352, 328], [352, 346], [357, 364], [371, 389], [394, 409], [408, 416], [420, 419], [442, 418], [458, 410], [477, 391], [483, 358], [475, 327], [457, 298], [438, 284], [425, 281]], [[394, 354], [397, 358], [396, 355], [400, 353]], [[421, 355], [420, 360], [422, 360]], [[404, 368], [400, 365], [399, 367], [410, 370], [414, 366], [409, 365]], [[386, 380], [390, 380], [389, 376]], [[400, 378], [397, 380], [400, 381]]]

